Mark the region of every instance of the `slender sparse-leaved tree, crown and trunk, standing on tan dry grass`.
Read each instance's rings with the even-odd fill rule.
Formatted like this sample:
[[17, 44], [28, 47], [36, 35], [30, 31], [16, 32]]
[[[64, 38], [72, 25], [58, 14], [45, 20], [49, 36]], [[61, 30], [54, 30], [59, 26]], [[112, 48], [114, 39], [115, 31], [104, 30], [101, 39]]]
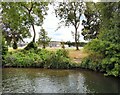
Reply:
[[76, 50], [79, 42], [78, 28], [80, 25], [80, 17], [83, 14], [85, 5], [83, 2], [62, 2], [55, 7], [56, 16], [65, 23], [65, 26], [73, 25], [75, 28], [74, 39]]

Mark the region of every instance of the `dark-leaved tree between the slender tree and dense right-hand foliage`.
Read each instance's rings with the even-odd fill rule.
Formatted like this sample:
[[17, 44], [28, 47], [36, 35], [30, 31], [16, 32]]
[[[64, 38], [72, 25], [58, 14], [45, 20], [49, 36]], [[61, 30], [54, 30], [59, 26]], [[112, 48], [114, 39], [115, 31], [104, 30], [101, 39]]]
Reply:
[[84, 15], [87, 20], [82, 21], [84, 28], [82, 29], [82, 35], [85, 40], [91, 40], [98, 37], [100, 30], [100, 12], [95, 3], [86, 3], [86, 10]]

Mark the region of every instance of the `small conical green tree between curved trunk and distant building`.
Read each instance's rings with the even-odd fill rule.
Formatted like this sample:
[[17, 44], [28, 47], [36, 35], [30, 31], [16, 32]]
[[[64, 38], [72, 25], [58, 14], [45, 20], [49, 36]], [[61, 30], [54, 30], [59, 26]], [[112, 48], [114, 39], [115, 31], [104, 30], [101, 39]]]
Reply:
[[49, 42], [50, 42], [50, 38], [47, 36], [47, 32], [42, 27], [39, 33], [38, 43], [42, 44], [43, 48], [45, 49], [46, 46], [49, 44]]

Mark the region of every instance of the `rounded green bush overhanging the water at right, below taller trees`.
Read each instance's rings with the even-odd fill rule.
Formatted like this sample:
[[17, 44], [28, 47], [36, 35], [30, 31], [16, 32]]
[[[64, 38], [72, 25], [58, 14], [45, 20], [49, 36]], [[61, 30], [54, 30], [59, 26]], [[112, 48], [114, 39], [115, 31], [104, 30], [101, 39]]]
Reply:
[[120, 76], [120, 45], [94, 39], [85, 46], [89, 56], [82, 63], [82, 68], [105, 72], [105, 75]]

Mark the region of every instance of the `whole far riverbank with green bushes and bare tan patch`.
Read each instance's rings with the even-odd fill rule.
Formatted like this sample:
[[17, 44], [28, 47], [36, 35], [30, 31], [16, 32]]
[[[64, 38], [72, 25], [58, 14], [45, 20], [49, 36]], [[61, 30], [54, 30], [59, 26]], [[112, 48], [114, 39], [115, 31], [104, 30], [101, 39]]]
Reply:
[[84, 49], [9, 49], [4, 56], [3, 68], [47, 68], [47, 69], [88, 69], [106, 74], [106, 70], [99, 68], [100, 64], [94, 64], [87, 59], [88, 53]]

